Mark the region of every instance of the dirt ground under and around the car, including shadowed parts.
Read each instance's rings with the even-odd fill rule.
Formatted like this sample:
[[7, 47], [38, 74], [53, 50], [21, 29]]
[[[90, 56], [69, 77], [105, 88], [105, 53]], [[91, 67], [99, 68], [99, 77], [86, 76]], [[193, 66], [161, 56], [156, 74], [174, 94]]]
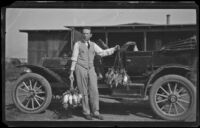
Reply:
[[[39, 114], [25, 114], [20, 112], [13, 104], [11, 89], [13, 82], [5, 84], [5, 120], [6, 121], [87, 121], [81, 114], [81, 108], [64, 110], [61, 103], [52, 100], [49, 107]], [[129, 103], [100, 98], [100, 113], [103, 121], [130, 121], [130, 122], [159, 122], [162, 119], [155, 116], [148, 102]], [[195, 114], [194, 114], [195, 115]], [[195, 116], [187, 121], [194, 121]], [[93, 119], [93, 121], [100, 121]]]

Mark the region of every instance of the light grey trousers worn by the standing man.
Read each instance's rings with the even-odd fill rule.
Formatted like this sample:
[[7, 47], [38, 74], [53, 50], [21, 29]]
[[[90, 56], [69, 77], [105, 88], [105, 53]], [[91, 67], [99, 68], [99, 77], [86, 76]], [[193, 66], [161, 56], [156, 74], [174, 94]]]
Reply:
[[86, 69], [76, 64], [75, 74], [78, 89], [83, 95], [83, 114], [88, 115], [93, 113], [99, 115], [99, 92], [97, 87], [97, 75], [94, 67]]

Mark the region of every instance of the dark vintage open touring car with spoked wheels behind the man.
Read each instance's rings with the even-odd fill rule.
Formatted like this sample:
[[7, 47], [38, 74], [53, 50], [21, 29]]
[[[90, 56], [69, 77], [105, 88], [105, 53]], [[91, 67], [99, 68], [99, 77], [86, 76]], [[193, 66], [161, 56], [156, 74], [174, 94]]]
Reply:
[[[105, 72], [120, 55], [129, 83], [113, 86], [99, 80], [100, 96], [116, 100], [149, 100], [155, 114], [165, 120], [180, 121], [196, 107], [197, 47], [196, 39], [169, 43], [157, 51], [132, 51], [125, 44], [114, 54], [103, 58]], [[113, 61], [111, 61], [113, 60]], [[24, 72], [13, 88], [13, 101], [25, 113], [39, 113], [51, 103], [54, 95], [69, 89], [70, 58], [44, 58], [42, 66], [19, 65]], [[105, 74], [104, 74], [105, 76]]]

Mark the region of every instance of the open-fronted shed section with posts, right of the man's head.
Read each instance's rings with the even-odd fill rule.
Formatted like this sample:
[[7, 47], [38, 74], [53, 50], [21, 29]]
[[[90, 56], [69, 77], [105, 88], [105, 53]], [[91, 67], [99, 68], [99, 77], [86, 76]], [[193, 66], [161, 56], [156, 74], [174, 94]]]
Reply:
[[[66, 26], [81, 31], [83, 26]], [[91, 27], [91, 40], [102, 39], [109, 47], [123, 45], [127, 41], [135, 41], [139, 50], [159, 50], [168, 42], [174, 42], [197, 35], [197, 25], [153, 25], [153, 24], [122, 24], [116, 26], [84, 26]], [[73, 37], [73, 36], [72, 36]]]

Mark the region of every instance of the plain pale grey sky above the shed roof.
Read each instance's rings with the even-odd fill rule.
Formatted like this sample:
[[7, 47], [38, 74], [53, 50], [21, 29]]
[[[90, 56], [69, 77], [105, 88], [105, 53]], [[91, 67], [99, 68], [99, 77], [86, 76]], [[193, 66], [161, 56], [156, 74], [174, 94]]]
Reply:
[[6, 9], [6, 57], [27, 58], [27, 33], [21, 29], [65, 29], [76, 25], [126, 23], [196, 24], [194, 9]]

